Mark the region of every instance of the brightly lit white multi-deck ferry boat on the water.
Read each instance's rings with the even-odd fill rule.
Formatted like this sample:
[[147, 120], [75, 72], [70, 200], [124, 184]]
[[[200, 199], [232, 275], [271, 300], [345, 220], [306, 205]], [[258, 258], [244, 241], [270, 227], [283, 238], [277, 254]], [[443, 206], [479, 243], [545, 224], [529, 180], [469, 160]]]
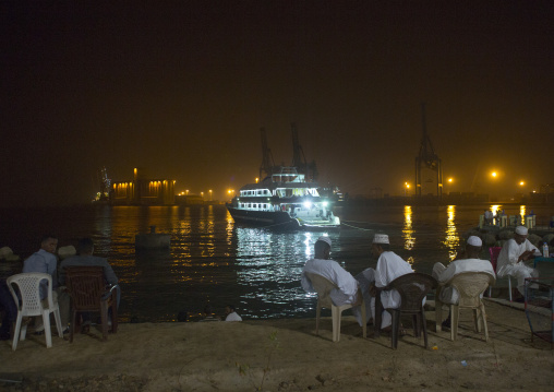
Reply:
[[340, 226], [330, 202], [317, 192], [317, 183], [306, 182], [294, 167], [282, 167], [262, 182], [242, 187], [227, 209], [238, 223], [302, 229]]

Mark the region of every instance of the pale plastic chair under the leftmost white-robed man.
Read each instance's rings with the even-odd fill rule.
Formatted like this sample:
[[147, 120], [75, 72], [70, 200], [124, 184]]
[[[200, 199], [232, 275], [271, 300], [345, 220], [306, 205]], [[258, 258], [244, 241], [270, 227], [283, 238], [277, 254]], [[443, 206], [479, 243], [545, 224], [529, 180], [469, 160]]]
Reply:
[[[340, 319], [342, 316], [342, 310], [347, 310], [352, 308], [352, 305], [346, 304], [341, 306], [336, 306], [333, 304], [330, 299], [330, 292], [334, 288], [337, 288], [337, 285], [330, 282], [329, 280], [317, 275], [306, 273], [308, 278], [312, 282], [312, 286], [317, 292], [317, 308], [315, 310], [315, 334], [320, 334], [320, 314], [322, 308], [330, 309], [330, 314], [333, 319], [333, 342], [338, 342], [340, 340]], [[361, 292], [359, 290], [359, 295], [361, 296]], [[365, 301], [362, 299], [362, 304], [360, 305], [362, 309], [362, 331], [363, 337], [366, 336], [366, 324], [365, 324]]]

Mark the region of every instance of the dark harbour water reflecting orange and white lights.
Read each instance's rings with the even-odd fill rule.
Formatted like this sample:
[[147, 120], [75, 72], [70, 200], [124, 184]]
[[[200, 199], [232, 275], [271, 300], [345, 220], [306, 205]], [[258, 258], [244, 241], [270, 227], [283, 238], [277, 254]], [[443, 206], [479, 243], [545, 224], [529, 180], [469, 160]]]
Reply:
[[[393, 250], [419, 272], [447, 262], [460, 238], [474, 227], [481, 206], [340, 207], [344, 222], [329, 231], [332, 258], [357, 274], [375, 266], [370, 240], [375, 231], [390, 236]], [[553, 207], [503, 206], [506, 213], [530, 210], [546, 224]], [[171, 321], [188, 310], [194, 319], [209, 302], [216, 312], [234, 304], [243, 318], [313, 317], [314, 297], [300, 287], [300, 273], [321, 233], [287, 233], [236, 226], [222, 205], [84, 206], [1, 210], [0, 247], [22, 258], [38, 249], [45, 233], [59, 245], [93, 237], [96, 254], [107, 257], [122, 287], [122, 321]], [[135, 252], [134, 236], [155, 225], [171, 235], [168, 251]], [[484, 254], [483, 254], [484, 257]], [[21, 272], [21, 263], [0, 264], [0, 274]]]

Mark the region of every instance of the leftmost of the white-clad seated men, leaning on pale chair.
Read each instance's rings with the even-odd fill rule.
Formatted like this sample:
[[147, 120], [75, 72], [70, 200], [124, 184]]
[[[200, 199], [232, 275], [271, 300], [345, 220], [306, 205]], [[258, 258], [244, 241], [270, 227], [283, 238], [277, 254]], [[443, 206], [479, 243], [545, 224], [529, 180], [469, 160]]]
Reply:
[[[314, 259], [308, 260], [304, 269], [302, 270], [301, 285], [308, 293], [315, 293], [312, 282], [308, 277], [306, 273], [321, 275], [334, 284], [337, 288], [330, 292], [330, 299], [335, 306], [341, 306], [345, 304], [352, 304], [352, 312], [358, 320], [358, 323], [362, 325], [362, 312], [360, 305], [362, 298], [358, 297], [358, 281], [339, 265], [334, 260], [329, 259], [330, 254], [330, 238], [322, 236], [315, 241], [314, 245]], [[365, 304], [368, 310], [370, 304]], [[366, 311], [366, 318], [369, 319], [370, 312]], [[368, 320], [363, 321], [368, 322]]]

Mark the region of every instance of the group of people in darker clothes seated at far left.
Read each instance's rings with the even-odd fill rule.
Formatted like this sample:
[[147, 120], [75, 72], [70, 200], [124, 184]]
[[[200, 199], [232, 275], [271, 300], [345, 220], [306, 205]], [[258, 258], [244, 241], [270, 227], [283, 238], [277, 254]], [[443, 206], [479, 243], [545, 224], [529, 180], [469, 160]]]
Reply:
[[[113, 272], [108, 260], [105, 258], [93, 256], [94, 242], [91, 238], [82, 238], [79, 240], [76, 247], [76, 254], [62, 260], [59, 263], [57, 256], [58, 238], [55, 235], [45, 235], [40, 240], [40, 249], [28, 257], [23, 262], [23, 273], [27, 272], [40, 272], [47, 273], [52, 276], [52, 297], [53, 301], [58, 302], [60, 308], [60, 318], [63, 329], [63, 333], [69, 333], [69, 321], [70, 321], [70, 296], [65, 284], [65, 268], [68, 266], [101, 266], [104, 270], [104, 277], [108, 286], [115, 286], [118, 284], [118, 277]], [[40, 282], [40, 299], [45, 307], [48, 306], [48, 286], [47, 281]], [[117, 301], [119, 301], [121, 293], [117, 290]], [[10, 338], [10, 325], [15, 321], [16, 308], [13, 301], [13, 297], [8, 290], [5, 281], [0, 283], [0, 300], [3, 307], [7, 309], [4, 320], [2, 320], [2, 326], [0, 330], [0, 338]], [[84, 321], [84, 328], [89, 324], [88, 314], [82, 314]], [[43, 325], [43, 317], [35, 317], [34, 320], [35, 334], [44, 334], [45, 326]]]

